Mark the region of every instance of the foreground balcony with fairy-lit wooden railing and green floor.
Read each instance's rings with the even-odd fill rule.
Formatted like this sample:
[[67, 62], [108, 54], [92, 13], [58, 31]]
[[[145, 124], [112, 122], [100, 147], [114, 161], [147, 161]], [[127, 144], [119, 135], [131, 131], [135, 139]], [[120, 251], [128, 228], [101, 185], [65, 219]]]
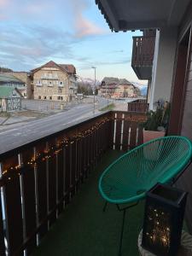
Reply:
[[[121, 214], [113, 206], [102, 213], [98, 177], [143, 142], [145, 119], [144, 113], [102, 113], [1, 154], [0, 255], [116, 255]], [[127, 252], [137, 252], [142, 211], [130, 213]]]

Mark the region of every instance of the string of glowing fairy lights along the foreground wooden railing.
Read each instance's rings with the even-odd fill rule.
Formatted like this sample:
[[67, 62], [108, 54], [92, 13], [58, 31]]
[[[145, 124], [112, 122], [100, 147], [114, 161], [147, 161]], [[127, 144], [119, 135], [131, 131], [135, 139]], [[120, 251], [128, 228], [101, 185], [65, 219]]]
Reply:
[[[90, 125], [90, 128], [81, 131], [74, 131], [74, 133], [69, 133], [69, 135], [65, 135], [62, 138], [59, 138], [59, 141], [55, 143], [54, 146], [50, 146], [44, 150], [43, 153], [38, 153], [33, 156], [30, 160], [28, 160], [25, 165], [21, 163], [21, 165], [10, 166], [9, 168], [3, 170], [3, 176], [9, 174], [9, 172], [17, 172], [20, 175], [21, 169], [25, 166], [37, 166], [39, 162], [44, 162], [49, 160], [56, 154], [59, 154], [63, 148], [67, 148], [70, 144], [76, 143], [82, 140], [84, 137], [88, 137], [91, 134], [98, 131], [102, 125], [108, 123], [109, 118], [102, 118], [98, 120], [93, 125]], [[8, 177], [10, 179], [11, 177]]]

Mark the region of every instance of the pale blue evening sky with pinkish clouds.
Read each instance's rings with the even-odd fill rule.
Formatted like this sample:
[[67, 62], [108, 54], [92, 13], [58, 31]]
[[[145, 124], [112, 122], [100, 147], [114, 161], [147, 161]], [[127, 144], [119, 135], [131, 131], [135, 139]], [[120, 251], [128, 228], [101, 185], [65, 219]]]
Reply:
[[95, 0], [0, 0], [0, 66], [29, 71], [52, 60], [83, 78], [138, 80], [132, 36], [111, 32]]

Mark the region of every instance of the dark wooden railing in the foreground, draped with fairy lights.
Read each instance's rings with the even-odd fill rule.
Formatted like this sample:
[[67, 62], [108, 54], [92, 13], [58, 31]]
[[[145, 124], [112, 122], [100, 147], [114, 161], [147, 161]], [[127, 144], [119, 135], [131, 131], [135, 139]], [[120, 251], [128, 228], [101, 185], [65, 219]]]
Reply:
[[143, 143], [145, 119], [103, 113], [1, 154], [0, 255], [32, 253], [108, 148]]

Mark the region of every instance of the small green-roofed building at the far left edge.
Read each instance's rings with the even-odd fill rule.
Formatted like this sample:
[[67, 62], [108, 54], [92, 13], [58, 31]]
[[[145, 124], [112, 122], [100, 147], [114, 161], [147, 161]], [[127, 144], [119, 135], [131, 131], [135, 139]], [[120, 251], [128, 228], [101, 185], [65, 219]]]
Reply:
[[23, 96], [17, 88], [13, 86], [0, 86], [0, 111], [20, 110], [21, 97]]

